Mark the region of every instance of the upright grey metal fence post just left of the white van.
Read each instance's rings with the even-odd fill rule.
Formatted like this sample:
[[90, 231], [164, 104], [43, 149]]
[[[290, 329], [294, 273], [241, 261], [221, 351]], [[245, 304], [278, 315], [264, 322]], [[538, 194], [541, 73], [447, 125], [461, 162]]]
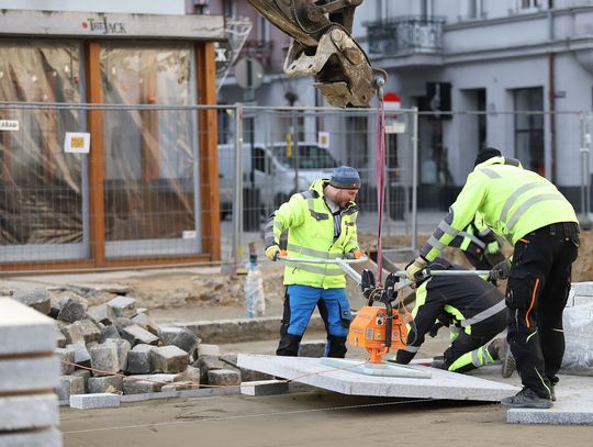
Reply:
[[235, 103], [235, 190], [233, 192], [233, 262], [243, 257], [243, 104]]

